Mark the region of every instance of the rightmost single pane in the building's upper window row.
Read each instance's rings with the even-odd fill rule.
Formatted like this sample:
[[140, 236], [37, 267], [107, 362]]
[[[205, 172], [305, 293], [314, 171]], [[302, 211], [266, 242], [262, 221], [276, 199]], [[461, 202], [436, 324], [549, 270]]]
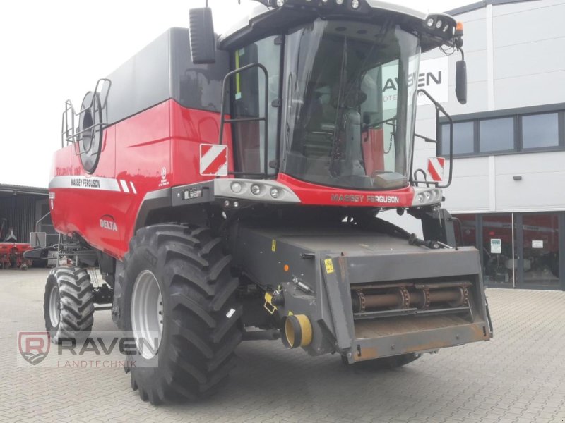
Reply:
[[522, 116], [522, 147], [542, 148], [559, 145], [559, 114]]

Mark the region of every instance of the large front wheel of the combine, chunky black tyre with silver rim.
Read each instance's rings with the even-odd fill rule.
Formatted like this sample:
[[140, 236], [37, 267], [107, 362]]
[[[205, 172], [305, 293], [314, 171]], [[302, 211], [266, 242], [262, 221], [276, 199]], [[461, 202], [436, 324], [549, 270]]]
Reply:
[[194, 400], [227, 378], [242, 340], [239, 281], [230, 263], [208, 228], [148, 226], [131, 239], [120, 275], [124, 329], [136, 340], [160, 331], [157, 367], [143, 367], [147, 357], [138, 355], [130, 369], [142, 400]]

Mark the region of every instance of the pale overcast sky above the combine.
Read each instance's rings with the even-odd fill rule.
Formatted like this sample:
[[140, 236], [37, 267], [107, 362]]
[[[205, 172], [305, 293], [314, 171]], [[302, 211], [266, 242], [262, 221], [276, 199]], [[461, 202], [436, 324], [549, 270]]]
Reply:
[[[394, 1], [394, 0], [391, 0]], [[472, 0], [403, 0], [446, 11]], [[47, 187], [61, 148], [64, 103], [85, 92], [169, 27], [187, 27], [204, 0], [12, 0], [0, 3], [0, 183]], [[209, 0], [216, 32], [255, 1]]]

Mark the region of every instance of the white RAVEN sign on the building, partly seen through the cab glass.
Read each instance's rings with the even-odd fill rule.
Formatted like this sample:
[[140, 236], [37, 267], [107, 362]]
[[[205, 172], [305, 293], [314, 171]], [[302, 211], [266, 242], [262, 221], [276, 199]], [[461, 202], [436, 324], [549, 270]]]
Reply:
[[[396, 109], [396, 97], [398, 95], [398, 61], [391, 66], [383, 66], [383, 110]], [[412, 68], [412, 61], [410, 62]], [[448, 102], [448, 58], [439, 57], [420, 62], [420, 70], [416, 74], [409, 70], [408, 86], [417, 84], [418, 88], [424, 88], [434, 99], [440, 103]], [[432, 104], [429, 99], [420, 94], [418, 106]]]

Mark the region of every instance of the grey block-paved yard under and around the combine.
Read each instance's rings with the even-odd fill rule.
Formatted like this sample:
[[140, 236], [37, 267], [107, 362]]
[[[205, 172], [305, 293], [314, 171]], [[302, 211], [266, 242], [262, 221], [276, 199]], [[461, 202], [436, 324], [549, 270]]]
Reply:
[[[43, 329], [45, 270], [0, 271], [0, 421], [565, 422], [565, 293], [489, 289], [495, 338], [362, 373], [278, 341], [239, 347], [203, 403], [153, 407], [122, 369], [16, 367], [16, 331]], [[109, 312], [95, 329], [111, 330]]]

